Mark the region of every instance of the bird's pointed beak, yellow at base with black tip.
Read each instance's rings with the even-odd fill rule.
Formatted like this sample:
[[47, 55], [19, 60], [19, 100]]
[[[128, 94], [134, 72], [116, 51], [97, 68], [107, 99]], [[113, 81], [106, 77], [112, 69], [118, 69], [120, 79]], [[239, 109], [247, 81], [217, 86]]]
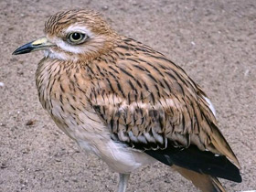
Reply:
[[36, 50], [45, 50], [52, 46], [54, 46], [54, 44], [50, 43], [47, 37], [41, 37], [35, 41], [21, 46], [20, 48], [17, 48], [13, 52], [13, 55], [25, 54]]

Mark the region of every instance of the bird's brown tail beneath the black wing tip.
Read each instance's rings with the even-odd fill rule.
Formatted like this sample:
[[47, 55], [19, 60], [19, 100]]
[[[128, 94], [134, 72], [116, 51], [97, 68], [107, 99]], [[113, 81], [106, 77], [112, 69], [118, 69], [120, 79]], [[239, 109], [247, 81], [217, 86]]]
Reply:
[[181, 175], [192, 181], [195, 187], [203, 192], [225, 192], [217, 177], [199, 174], [186, 168], [172, 165], [172, 167]]

